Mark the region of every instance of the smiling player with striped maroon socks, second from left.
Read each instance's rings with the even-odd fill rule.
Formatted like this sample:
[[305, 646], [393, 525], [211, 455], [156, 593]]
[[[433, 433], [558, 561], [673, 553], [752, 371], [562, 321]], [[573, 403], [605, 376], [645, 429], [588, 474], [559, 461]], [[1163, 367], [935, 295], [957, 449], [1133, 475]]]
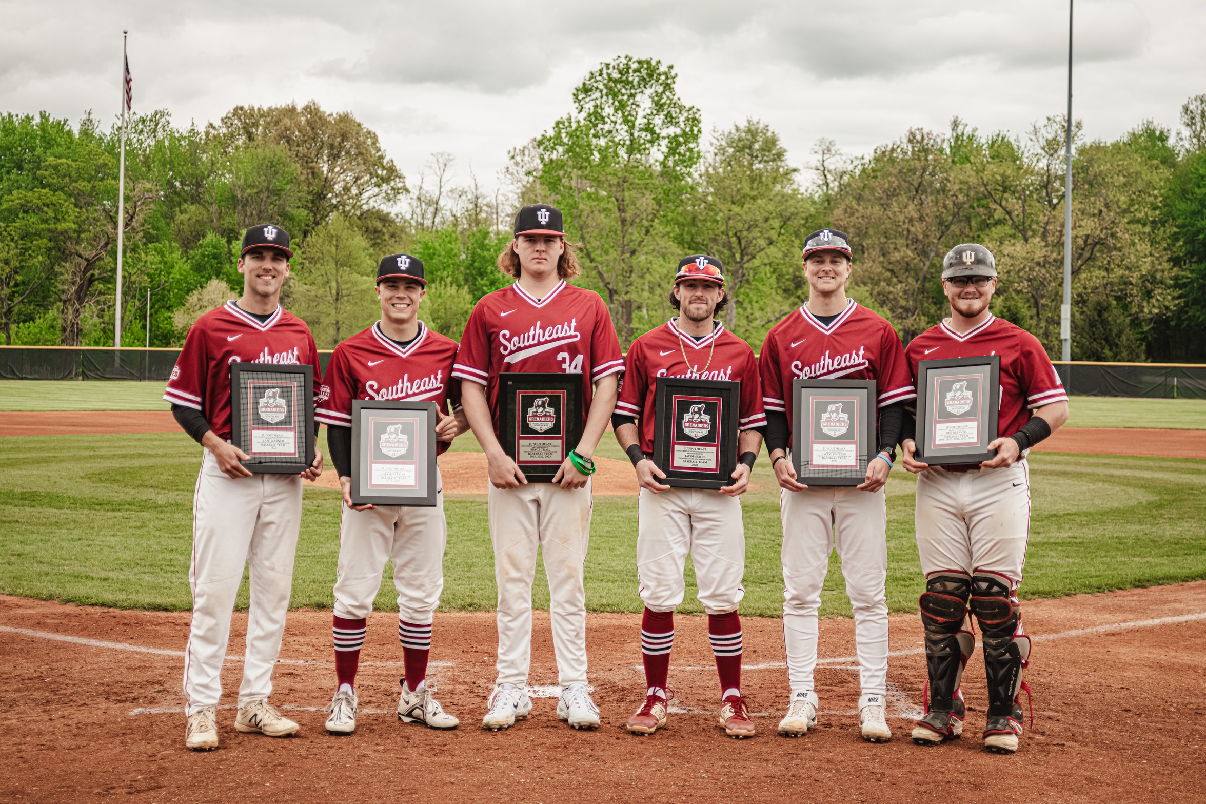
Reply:
[[[398, 591], [398, 639], [403, 679], [398, 717], [429, 728], [455, 728], [459, 721], [444, 711], [427, 687], [427, 656], [432, 621], [444, 588], [444, 489], [435, 470], [435, 507], [352, 505], [352, 400], [396, 399], [433, 401], [437, 454], [468, 429], [463, 413], [445, 415], [445, 400], [457, 398], [452, 360], [457, 345], [418, 321], [427, 278], [423, 263], [410, 254], [390, 254], [377, 266], [376, 293], [381, 319], [335, 347], [318, 392], [315, 418], [327, 424], [330, 460], [344, 492], [339, 526], [339, 567], [332, 634], [335, 645], [335, 694], [327, 730], [356, 730], [356, 669], [373, 601], [381, 588], [381, 571], [393, 559]], [[455, 383], [459, 386], [459, 383]], [[455, 407], [455, 406], [453, 406]]]

